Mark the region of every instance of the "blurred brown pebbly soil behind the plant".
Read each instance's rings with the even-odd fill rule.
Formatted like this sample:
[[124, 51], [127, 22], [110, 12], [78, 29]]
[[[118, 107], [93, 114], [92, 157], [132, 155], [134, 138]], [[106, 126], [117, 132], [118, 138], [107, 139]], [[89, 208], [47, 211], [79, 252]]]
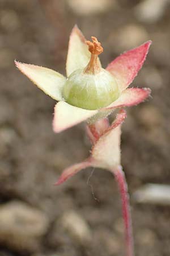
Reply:
[[170, 2], [168, 0], [0, 0], [0, 255], [122, 256], [124, 229], [109, 172], [80, 172], [54, 187], [63, 168], [86, 158], [84, 124], [54, 134], [56, 103], [14, 59], [65, 74], [77, 23], [103, 44], [103, 67], [148, 39], [153, 44], [133, 85], [152, 97], [128, 110], [122, 165], [131, 196], [137, 256], [170, 255], [170, 206], [138, 204], [143, 184], [170, 183]]

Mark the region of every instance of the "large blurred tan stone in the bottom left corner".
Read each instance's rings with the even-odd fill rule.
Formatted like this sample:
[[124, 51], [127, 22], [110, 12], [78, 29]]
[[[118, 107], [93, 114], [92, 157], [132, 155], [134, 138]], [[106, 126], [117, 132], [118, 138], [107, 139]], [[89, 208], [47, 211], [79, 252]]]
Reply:
[[44, 213], [20, 201], [0, 207], [0, 242], [19, 251], [33, 251], [48, 228]]

